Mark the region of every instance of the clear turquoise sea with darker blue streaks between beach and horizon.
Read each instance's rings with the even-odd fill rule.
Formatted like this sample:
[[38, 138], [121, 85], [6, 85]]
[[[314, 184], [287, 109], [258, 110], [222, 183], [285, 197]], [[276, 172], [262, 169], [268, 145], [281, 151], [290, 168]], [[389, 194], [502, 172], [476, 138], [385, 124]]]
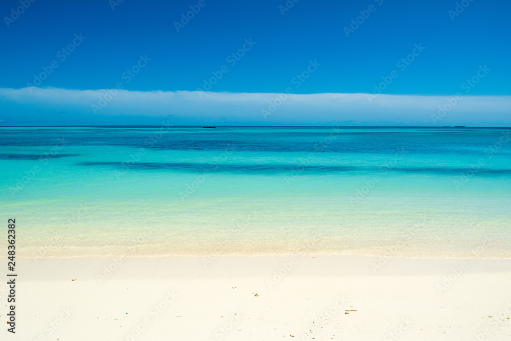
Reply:
[[1, 127], [23, 256], [511, 257], [504, 128]]

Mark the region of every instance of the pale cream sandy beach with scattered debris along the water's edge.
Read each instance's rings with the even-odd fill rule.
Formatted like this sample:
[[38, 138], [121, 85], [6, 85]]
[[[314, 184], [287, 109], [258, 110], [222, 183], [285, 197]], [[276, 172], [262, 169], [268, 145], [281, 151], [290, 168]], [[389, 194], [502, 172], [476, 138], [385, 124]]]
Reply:
[[15, 339], [511, 338], [511, 260], [18, 258], [17, 272]]

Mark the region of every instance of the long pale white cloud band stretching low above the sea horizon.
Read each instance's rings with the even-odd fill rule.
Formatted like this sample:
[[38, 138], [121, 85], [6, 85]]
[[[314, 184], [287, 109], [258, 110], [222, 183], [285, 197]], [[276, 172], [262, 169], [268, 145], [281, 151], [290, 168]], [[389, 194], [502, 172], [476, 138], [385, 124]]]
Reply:
[[511, 126], [511, 96], [0, 89], [4, 125]]

